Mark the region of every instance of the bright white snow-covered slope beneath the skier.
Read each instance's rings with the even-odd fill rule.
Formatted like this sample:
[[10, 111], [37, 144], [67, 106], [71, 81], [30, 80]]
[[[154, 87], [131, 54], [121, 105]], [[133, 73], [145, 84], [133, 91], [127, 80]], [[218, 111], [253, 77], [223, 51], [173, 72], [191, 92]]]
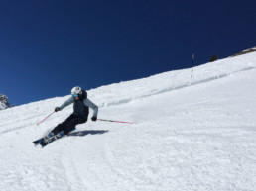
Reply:
[[[0, 111], [0, 190], [191, 191], [256, 188], [256, 53], [88, 91], [98, 118], [69, 137], [32, 141], [64, 121], [68, 98]], [[71, 87], [70, 87], [71, 88]], [[90, 114], [91, 115], [91, 114]]]

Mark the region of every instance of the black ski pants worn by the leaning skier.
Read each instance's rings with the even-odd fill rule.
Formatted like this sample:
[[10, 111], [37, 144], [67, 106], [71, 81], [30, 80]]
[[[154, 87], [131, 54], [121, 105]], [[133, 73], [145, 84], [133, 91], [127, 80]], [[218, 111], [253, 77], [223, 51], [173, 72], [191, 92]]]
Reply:
[[87, 122], [87, 118], [81, 118], [79, 116], [71, 114], [62, 124], [59, 124], [51, 132], [56, 135], [59, 132], [63, 131], [64, 135], [66, 135], [71, 132], [77, 124], [83, 124], [85, 122]]

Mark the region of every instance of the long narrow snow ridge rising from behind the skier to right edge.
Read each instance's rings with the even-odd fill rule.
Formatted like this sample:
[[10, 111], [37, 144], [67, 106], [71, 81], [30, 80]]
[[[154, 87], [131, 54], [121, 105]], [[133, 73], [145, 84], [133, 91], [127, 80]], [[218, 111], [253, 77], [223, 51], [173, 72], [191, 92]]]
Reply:
[[105, 104], [99, 104], [99, 107], [116, 106], [116, 105], [120, 105], [120, 104], [126, 104], [126, 103], [129, 103], [129, 102], [131, 102], [135, 99], [147, 98], [147, 97], [150, 97], [150, 96], [166, 93], [166, 92], [169, 92], [169, 91], [175, 91], [175, 90], [183, 89], [183, 88], [190, 87], [190, 86], [193, 86], [193, 85], [211, 82], [211, 81], [214, 81], [214, 80], [217, 80], [217, 79], [228, 77], [228, 76], [230, 76], [232, 74], [235, 74], [235, 73], [240, 73], [240, 72], [251, 70], [251, 69], [256, 69], [256, 67], [255, 66], [250, 66], [250, 67], [246, 67], [246, 68], [243, 68], [243, 69], [240, 69], [240, 70], [237, 70], [237, 71], [233, 71], [231, 73], [222, 73], [222, 74], [219, 74], [217, 76], [212, 76], [212, 77], [208, 77], [208, 78], [201, 79], [201, 80], [187, 81], [183, 84], [180, 83], [178, 86], [175, 86], [175, 87], [171, 86], [169, 88], [164, 88], [162, 90], [155, 91], [153, 93], [148, 93], [148, 94], [145, 94], [143, 96], [135, 96], [133, 98], [124, 98], [124, 99], [120, 99], [118, 101], [111, 101], [111, 102], [108, 102], [108, 103], [105, 103]]

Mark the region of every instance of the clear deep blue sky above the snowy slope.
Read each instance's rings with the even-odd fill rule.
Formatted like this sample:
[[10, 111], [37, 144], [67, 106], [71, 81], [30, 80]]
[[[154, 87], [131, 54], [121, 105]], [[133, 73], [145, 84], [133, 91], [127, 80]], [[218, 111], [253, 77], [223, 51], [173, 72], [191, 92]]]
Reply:
[[3, 0], [0, 93], [21, 105], [224, 58], [256, 45], [255, 18], [255, 0]]

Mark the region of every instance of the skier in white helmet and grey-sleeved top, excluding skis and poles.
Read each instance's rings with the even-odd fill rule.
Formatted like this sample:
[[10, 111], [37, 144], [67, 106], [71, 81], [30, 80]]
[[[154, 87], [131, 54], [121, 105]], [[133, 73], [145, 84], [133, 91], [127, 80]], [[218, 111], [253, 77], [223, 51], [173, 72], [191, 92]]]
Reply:
[[64, 107], [73, 103], [73, 113], [61, 124], [55, 127], [50, 135], [67, 135], [71, 132], [77, 124], [87, 122], [89, 115], [89, 108], [93, 109], [92, 121], [97, 121], [98, 107], [87, 98], [87, 92], [76, 86], [71, 90], [72, 97], [68, 98], [60, 107], [56, 107], [55, 111], [59, 112]]

